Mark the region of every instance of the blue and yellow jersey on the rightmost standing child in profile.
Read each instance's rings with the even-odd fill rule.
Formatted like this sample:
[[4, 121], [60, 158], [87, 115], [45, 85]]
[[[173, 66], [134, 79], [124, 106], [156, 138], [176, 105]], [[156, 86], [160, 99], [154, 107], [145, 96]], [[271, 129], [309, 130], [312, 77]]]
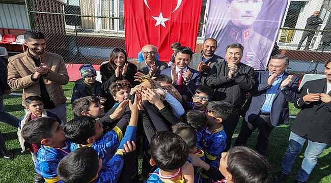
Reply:
[[223, 127], [220, 127], [212, 132], [207, 128], [201, 131], [201, 139], [199, 142], [199, 147], [204, 150], [206, 162], [214, 168], [218, 168], [220, 154], [224, 151], [227, 146], [226, 140], [227, 135]]

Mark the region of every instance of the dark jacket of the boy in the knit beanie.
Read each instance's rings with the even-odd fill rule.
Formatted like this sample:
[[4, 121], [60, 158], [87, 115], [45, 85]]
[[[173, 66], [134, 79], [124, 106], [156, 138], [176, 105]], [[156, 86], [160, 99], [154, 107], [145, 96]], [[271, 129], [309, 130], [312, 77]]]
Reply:
[[99, 81], [95, 81], [93, 86], [88, 86], [84, 84], [82, 79], [78, 79], [75, 81], [75, 86], [72, 89], [71, 103], [73, 103], [76, 99], [87, 96], [105, 97], [101, 89], [101, 83]]

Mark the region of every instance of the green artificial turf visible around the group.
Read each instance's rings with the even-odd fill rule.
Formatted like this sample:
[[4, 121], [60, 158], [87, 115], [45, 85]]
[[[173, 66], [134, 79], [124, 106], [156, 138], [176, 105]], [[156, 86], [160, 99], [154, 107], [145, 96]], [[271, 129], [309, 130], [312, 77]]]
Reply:
[[[64, 91], [67, 97], [71, 97], [73, 88], [73, 82], [69, 82], [64, 86]], [[15, 93], [20, 93], [20, 91], [15, 91]], [[24, 114], [23, 107], [21, 106], [21, 97], [9, 95], [5, 97], [5, 110], [15, 115], [16, 117], [21, 117]], [[290, 106], [290, 114], [295, 115], [298, 109], [295, 109], [293, 105]], [[67, 116], [68, 120], [73, 118], [73, 113], [71, 110], [70, 101], [67, 101]], [[293, 121], [293, 119], [291, 119]], [[233, 136], [233, 142], [237, 137], [241, 128], [241, 123], [237, 126], [235, 134]], [[0, 131], [3, 133], [7, 148], [15, 153], [15, 159], [13, 160], [3, 160], [0, 159], [0, 182], [1, 183], [12, 183], [12, 182], [33, 182], [35, 171], [33, 162], [31, 159], [31, 154], [20, 154], [21, 148], [17, 140], [17, 129], [0, 123]], [[287, 148], [287, 140], [290, 134], [289, 126], [282, 125], [275, 128], [270, 136], [269, 149], [268, 149], [268, 160], [272, 165], [273, 172], [279, 171], [279, 167], [284, 156], [284, 152]], [[249, 139], [247, 145], [250, 147], [255, 147], [257, 132], [253, 133], [252, 138]], [[304, 147], [305, 148], [305, 147]], [[284, 182], [293, 182], [295, 175], [301, 165], [304, 151], [298, 156], [294, 166], [293, 171], [290, 176]], [[309, 182], [331, 182], [331, 147], [328, 146], [320, 158], [318, 159], [317, 166], [315, 167], [312, 175], [310, 176]]]

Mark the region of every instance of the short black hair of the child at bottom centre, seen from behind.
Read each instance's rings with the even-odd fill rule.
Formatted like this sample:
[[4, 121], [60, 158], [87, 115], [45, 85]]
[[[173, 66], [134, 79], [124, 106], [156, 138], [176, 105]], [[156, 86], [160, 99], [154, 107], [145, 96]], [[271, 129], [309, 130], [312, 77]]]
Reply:
[[187, 161], [188, 151], [185, 141], [178, 135], [161, 131], [151, 139], [151, 155], [155, 164], [164, 171], [173, 171]]

